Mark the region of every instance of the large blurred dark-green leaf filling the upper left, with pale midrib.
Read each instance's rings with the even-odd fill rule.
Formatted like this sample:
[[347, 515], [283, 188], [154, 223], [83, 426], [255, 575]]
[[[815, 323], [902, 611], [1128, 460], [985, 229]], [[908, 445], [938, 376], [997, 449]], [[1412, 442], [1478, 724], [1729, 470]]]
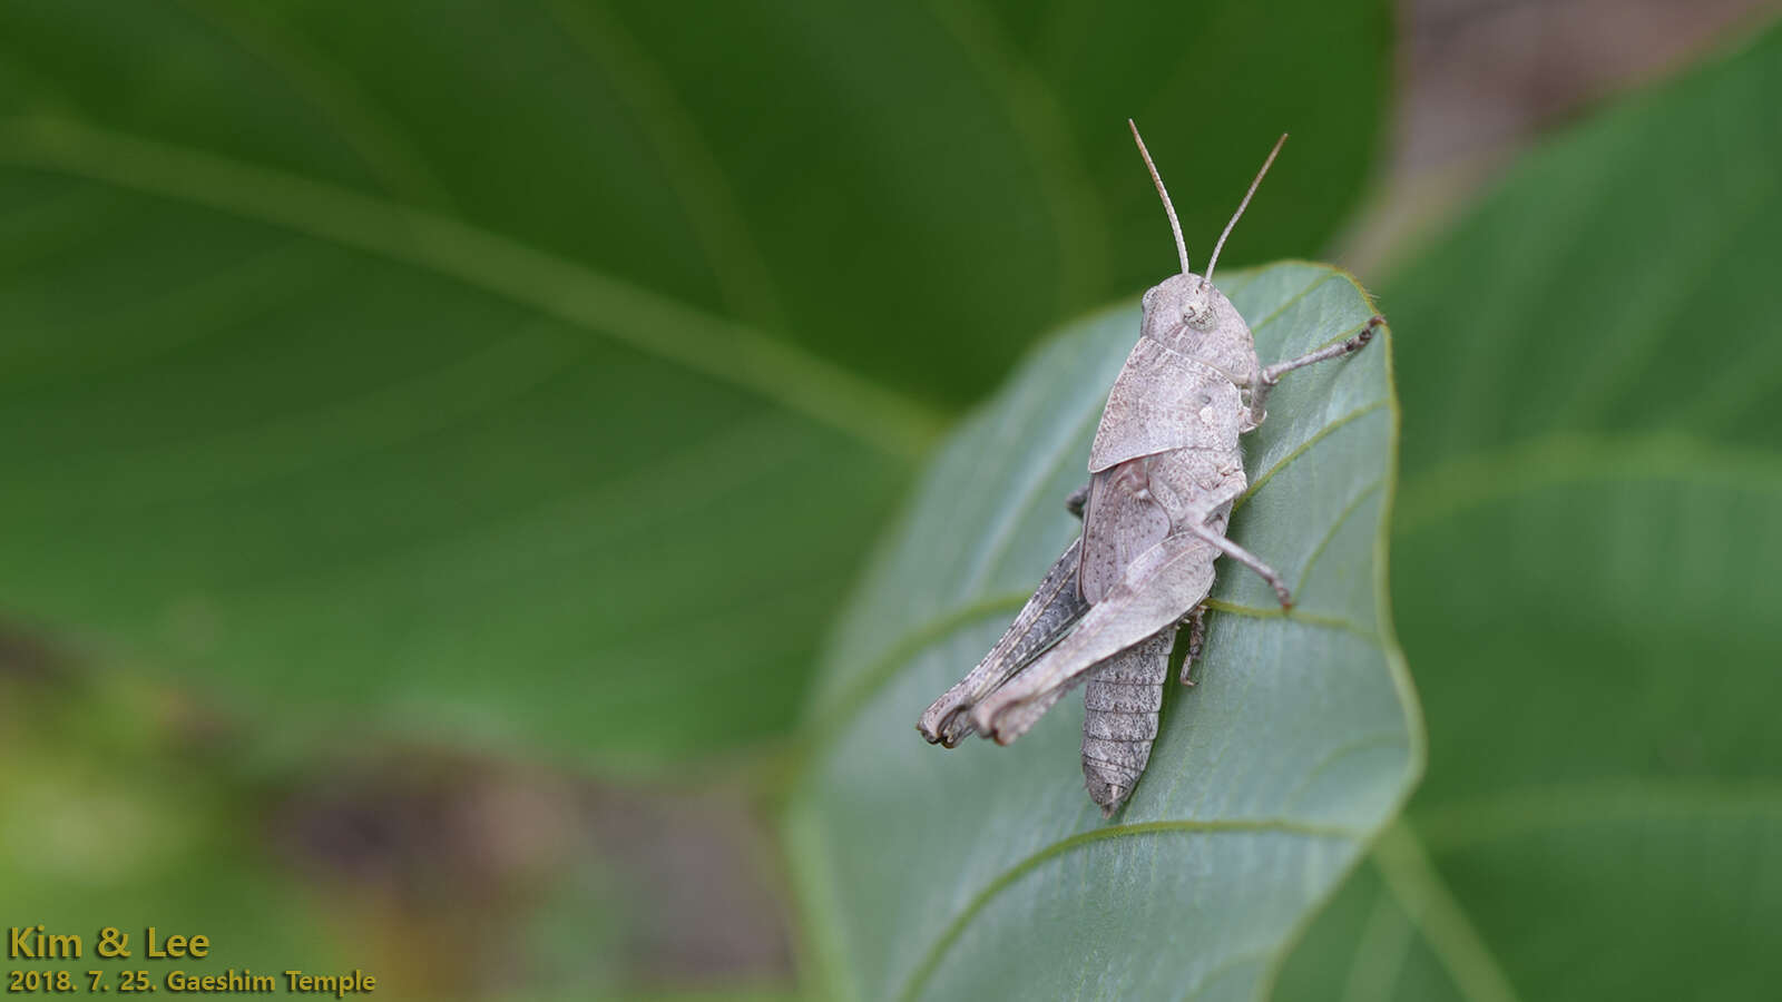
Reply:
[[782, 729], [912, 456], [1171, 260], [1128, 114], [1203, 253], [1281, 128], [1230, 260], [1331, 232], [1386, 4], [1290, 7], [0, 5], [0, 606], [269, 727]]

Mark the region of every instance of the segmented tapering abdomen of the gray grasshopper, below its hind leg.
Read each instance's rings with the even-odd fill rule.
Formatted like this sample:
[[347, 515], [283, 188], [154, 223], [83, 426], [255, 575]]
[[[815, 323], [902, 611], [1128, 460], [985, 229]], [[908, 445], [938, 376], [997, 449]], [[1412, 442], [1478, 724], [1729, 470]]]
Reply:
[[1176, 624], [1101, 661], [1083, 685], [1083, 784], [1110, 818], [1144, 776]]

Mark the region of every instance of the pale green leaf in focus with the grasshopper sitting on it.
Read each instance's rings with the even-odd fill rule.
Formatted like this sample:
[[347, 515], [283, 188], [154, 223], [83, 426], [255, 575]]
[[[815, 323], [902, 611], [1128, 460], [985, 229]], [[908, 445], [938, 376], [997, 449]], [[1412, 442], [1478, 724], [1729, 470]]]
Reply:
[[[1221, 287], [1267, 360], [1374, 312], [1315, 264]], [[1123, 303], [1026, 362], [948, 439], [850, 603], [788, 824], [823, 997], [1251, 997], [1410, 790], [1417, 708], [1383, 595], [1390, 342], [1271, 398], [1231, 535], [1299, 604], [1283, 619], [1221, 565], [1199, 685], [1171, 686], [1114, 822], [1083, 790], [1080, 699], [1009, 749], [916, 735], [1080, 531], [1064, 497], [1137, 330]]]

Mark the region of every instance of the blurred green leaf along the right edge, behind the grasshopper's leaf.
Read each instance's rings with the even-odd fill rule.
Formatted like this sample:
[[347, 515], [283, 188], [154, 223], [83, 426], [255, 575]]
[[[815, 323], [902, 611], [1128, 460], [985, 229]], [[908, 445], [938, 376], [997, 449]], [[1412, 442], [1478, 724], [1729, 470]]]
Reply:
[[1388, 287], [1429, 777], [1287, 998], [1759, 998], [1782, 959], [1782, 29]]

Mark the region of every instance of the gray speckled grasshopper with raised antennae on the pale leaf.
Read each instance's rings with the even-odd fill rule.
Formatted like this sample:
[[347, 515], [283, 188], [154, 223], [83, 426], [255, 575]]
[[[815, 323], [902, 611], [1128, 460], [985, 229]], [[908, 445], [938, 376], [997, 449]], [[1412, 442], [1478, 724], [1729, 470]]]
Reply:
[[946, 747], [973, 733], [1005, 745], [1082, 683], [1083, 777], [1105, 817], [1119, 809], [1151, 758], [1169, 654], [1183, 624], [1181, 681], [1192, 685], [1214, 560], [1224, 554], [1249, 567], [1283, 610], [1292, 606], [1281, 576], [1226, 538], [1231, 505], [1247, 487], [1240, 437], [1262, 424], [1281, 374], [1351, 355], [1385, 323], [1376, 316], [1347, 341], [1263, 369], [1249, 326], [1212, 275], [1287, 136], [1256, 171], [1199, 276], [1189, 267], [1176, 209], [1139, 127], [1128, 125], [1164, 200], [1181, 275], [1144, 294], [1139, 344], [1114, 380], [1089, 451], [1089, 483], [1066, 499], [1083, 535], [978, 667], [916, 724], [928, 742]]

